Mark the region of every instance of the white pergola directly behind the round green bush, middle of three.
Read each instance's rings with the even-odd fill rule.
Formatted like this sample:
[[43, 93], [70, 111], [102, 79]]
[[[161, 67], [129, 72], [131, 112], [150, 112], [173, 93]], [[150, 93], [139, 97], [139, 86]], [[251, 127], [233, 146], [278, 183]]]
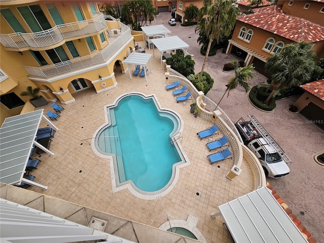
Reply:
[[[151, 39], [153, 45], [161, 52], [161, 66], [162, 66], [162, 55], [164, 52], [183, 49], [185, 55], [187, 55], [187, 49], [189, 45], [182, 41], [178, 36], [169, 36], [165, 38], [157, 38]], [[154, 48], [153, 48], [153, 56], [154, 56]]]

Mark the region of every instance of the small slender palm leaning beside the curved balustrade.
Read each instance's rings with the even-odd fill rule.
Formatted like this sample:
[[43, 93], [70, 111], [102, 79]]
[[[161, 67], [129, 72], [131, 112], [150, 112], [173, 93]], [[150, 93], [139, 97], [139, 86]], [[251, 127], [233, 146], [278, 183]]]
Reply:
[[253, 78], [255, 75], [254, 72], [252, 71], [252, 69], [254, 69], [253, 64], [251, 64], [249, 66], [245, 66], [245, 67], [238, 67], [237, 61], [233, 61], [233, 62], [231, 62], [231, 64], [235, 68], [235, 76], [228, 79], [228, 83], [226, 85], [227, 88], [226, 88], [222, 98], [219, 100], [218, 104], [216, 105], [215, 110], [217, 109], [219, 103], [221, 103], [226, 92], [227, 92], [227, 97], [228, 97], [229, 92], [231, 90], [235, 89], [237, 86], [243, 87], [246, 92], [248, 92], [250, 90], [248, 79]]

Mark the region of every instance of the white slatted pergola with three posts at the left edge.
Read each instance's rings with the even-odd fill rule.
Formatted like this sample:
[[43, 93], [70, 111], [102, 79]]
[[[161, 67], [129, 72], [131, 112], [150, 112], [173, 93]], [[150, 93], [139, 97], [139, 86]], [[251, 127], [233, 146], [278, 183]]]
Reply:
[[25, 179], [24, 173], [33, 145], [50, 155], [53, 152], [35, 141], [42, 118], [56, 131], [57, 127], [43, 114], [44, 109], [11, 116], [0, 128], [0, 182], [16, 185], [21, 182], [47, 189], [47, 186]]

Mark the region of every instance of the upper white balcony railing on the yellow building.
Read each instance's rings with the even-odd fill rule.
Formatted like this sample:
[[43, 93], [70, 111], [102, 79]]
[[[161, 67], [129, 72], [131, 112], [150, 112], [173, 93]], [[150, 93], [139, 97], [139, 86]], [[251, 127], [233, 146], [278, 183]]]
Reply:
[[97, 33], [106, 28], [104, 15], [100, 12], [97, 14], [97, 17], [90, 20], [60, 24], [41, 32], [0, 34], [0, 42], [7, 48], [17, 49], [44, 48], [56, 45], [63, 39]]

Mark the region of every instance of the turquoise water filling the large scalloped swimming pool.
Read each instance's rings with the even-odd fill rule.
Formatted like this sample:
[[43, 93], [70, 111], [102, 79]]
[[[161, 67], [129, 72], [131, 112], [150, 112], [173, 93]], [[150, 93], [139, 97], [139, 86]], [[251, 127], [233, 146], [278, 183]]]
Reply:
[[119, 183], [133, 181], [140, 190], [154, 192], [171, 180], [173, 165], [182, 159], [171, 145], [179, 122], [158, 111], [152, 98], [126, 96], [107, 107], [111, 125], [99, 133], [98, 147], [116, 155]]

